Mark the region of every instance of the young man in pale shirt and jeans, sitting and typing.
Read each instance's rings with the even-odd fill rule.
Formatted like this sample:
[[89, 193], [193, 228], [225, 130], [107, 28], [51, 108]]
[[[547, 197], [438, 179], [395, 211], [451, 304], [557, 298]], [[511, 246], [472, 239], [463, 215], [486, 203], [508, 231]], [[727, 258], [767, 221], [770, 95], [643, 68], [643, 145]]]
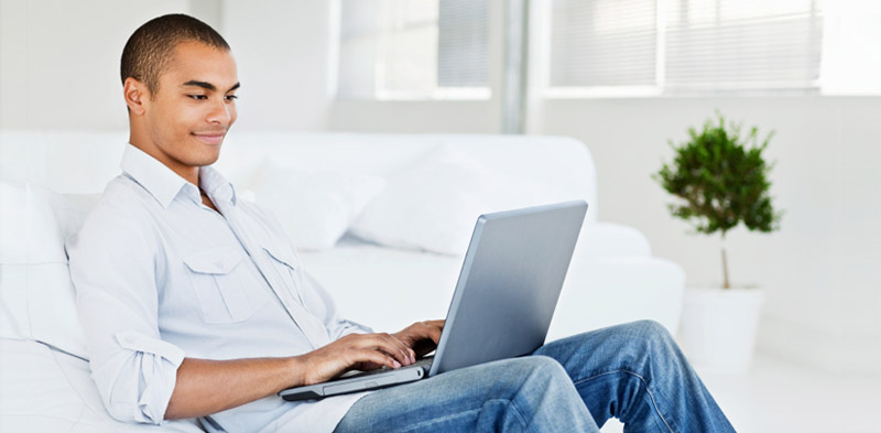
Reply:
[[210, 167], [236, 121], [236, 62], [186, 15], [154, 19], [122, 53], [130, 138], [123, 173], [70, 249], [90, 367], [110, 414], [211, 432], [731, 432], [653, 322], [596, 331], [531, 357], [322, 401], [282, 389], [350, 369], [399, 368], [443, 321], [376, 334], [336, 314], [261, 208]]

